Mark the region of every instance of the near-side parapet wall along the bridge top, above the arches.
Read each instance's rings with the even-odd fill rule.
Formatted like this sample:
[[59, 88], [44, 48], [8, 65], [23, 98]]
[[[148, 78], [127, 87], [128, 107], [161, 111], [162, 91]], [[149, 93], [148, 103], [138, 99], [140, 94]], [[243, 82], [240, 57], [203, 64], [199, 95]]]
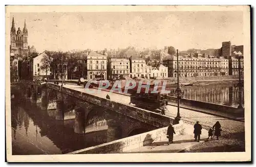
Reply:
[[[47, 87], [55, 90], [59, 90], [60, 86], [47, 83]], [[160, 115], [152, 111], [147, 111], [147, 110], [140, 109], [127, 104], [122, 104], [122, 103], [114, 102], [108, 99], [96, 97], [96, 96], [93, 96], [92, 94], [80, 92], [74, 89], [63, 87], [62, 92], [70, 96], [73, 96], [75, 98], [79, 98], [81, 100], [87, 101], [89, 103], [104, 107], [106, 109], [114, 110], [115, 112], [118, 112], [120, 114], [132, 117], [135, 120], [138, 120], [143, 123], [150, 124], [159, 128], [166, 127], [170, 123], [174, 124], [174, 121], [175, 121], [174, 117]]]

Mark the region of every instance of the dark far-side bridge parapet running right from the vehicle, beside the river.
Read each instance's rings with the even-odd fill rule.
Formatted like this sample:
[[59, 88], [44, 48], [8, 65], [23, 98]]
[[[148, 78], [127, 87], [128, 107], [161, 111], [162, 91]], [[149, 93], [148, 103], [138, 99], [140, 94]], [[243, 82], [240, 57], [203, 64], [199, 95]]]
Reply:
[[[167, 96], [167, 100], [172, 101], [172, 102], [177, 102], [177, 98], [173, 97], [173, 96]], [[243, 113], [244, 112], [244, 110], [237, 109], [237, 108], [231, 107], [231, 106], [225, 106], [225, 105], [190, 100], [190, 99], [180, 99], [180, 103], [188, 105], [188, 106], [195, 106], [195, 107], [206, 108], [206, 109], [211, 109], [211, 110], [216, 110], [216, 111], [221, 111], [221, 112], [229, 112], [229, 113]]]

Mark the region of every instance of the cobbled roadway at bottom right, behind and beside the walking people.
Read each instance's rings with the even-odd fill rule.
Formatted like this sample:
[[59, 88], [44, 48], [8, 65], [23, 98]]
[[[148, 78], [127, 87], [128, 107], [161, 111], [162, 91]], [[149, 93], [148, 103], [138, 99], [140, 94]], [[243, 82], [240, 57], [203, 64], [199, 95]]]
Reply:
[[[167, 106], [166, 115], [175, 117], [177, 115], [177, 107]], [[209, 114], [180, 108], [180, 116], [184, 123], [194, 125], [199, 121], [204, 129], [209, 129], [217, 121], [222, 126], [221, 137], [219, 140], [206, 140], [202, 145], [190, 148], [186, 152], [225, 152], [225, 151], [244, 151], [244, 122], [233, 121], [227, 118], [212, 116]]]

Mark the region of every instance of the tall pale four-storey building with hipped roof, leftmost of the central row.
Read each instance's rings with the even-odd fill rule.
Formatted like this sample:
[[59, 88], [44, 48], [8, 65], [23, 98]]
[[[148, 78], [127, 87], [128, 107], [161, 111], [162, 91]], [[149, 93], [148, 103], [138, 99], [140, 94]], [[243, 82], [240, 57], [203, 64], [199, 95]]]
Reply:
[[106, 79], [106, 56], [96, 52], [90, 52], [87, 56], [87, 79]]

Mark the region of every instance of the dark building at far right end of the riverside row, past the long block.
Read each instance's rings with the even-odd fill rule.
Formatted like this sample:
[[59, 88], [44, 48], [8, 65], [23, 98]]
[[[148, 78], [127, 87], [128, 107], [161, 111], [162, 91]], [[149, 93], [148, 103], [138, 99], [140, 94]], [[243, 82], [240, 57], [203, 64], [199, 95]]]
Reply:
[[[239, 60], [240, 59], [240, 60]], [[239, 62], [240, 61], [240, 62]], [[237, 57], [231, 57], [228, 59], [229, 63], [229, 75], [231, 76], [238, 76], [239, 75], [239, 63], [240, 63], [240, 71], [241, 71], [241, 76], [244, 75], [244, 60], [243, 57], [241, 56], [240, 58]]]

